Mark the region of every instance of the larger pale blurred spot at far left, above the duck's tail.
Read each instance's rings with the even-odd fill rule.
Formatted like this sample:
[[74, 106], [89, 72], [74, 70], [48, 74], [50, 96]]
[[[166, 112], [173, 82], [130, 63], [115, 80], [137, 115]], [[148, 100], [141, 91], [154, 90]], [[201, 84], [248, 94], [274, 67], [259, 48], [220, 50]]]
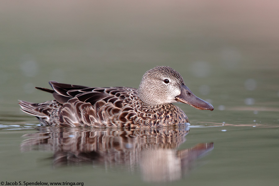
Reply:
[[20, 70], [27, 77], [34, 77], [38, 74], [38, 63], [31, 55], [24, 55], [20, 59]]

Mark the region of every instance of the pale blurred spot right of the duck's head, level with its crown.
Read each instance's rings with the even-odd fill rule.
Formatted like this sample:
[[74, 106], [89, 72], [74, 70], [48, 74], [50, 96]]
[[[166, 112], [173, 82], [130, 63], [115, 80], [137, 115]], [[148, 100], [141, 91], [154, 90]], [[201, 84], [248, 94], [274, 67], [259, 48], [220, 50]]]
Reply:
[[193, 75], [199, 78], [207, 77], [211, 73], [211, 66], [207, 61], [196, 61], [190, 69]]

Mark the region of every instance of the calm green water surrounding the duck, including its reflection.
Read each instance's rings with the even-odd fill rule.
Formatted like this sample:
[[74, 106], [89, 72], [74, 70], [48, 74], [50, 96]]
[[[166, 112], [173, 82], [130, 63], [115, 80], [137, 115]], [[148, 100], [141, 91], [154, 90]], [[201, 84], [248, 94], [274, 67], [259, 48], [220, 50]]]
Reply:
[[[277, 185], [278, 2], [0, 3], [0, 181], [84, 185]], [[17, 100], [55, 80], [138, 87], [167, 65], [214, 111], [191, 125], [53, 129]], [[214, 147], [213, 147], [213, 144]]]

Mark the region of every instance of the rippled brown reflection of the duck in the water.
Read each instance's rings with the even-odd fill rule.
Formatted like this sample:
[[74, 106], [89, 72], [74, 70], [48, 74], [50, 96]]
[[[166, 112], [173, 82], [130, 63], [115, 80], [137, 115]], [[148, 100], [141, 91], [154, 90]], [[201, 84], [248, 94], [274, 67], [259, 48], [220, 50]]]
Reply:
[[213, 143], [177, 150], [188, 128], [169, 127], [148, 130], [52, 128], [24, 135], [21, 150], [54, 152], [54, 166], [93, 163], [107, 167], [140, 168], [144, 180], [172, 181], [188, 171], [191, 162], [213, 149]]

